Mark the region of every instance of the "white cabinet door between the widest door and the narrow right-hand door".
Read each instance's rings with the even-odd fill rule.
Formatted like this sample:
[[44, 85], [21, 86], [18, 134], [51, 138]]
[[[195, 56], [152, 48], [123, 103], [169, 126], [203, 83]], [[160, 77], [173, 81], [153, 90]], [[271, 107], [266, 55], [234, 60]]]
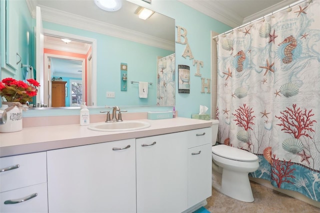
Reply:
[[187, 208], [185, 132], [136, 139], [136, 211], [182, 212]]

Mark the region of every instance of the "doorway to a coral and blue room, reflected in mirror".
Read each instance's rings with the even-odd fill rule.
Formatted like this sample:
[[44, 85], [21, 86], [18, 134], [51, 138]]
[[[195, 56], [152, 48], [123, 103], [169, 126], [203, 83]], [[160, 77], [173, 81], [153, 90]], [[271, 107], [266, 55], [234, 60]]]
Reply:
[[[53, 77], [62, 78], [66, 81], [68, 94], [65, 96], [65, 106], [80, 106], [81, 102], [87, 102], [90, 105], [90, 100], [86, 99], [84, 88], [89, 88], [91, 76], [91, 44], [71, 40], [65, 43], [58, 36], [44, 35], [44, 74], [47, 75], [48, 89], [44, 89], [44, 102], [48, 106], [52, 106], [54, 94], [50, 91], [50, 84]], [[91, 89], [88, 89], [90, 91]]]

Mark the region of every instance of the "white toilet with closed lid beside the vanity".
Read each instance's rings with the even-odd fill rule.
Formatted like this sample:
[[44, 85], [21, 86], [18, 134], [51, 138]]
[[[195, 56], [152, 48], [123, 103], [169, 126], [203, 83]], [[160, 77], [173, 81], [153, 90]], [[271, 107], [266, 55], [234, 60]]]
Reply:
[[224, 144], [215, 145], [218, 120], [212, 120], [212, 187], [237, 200], [254, 200], [248, 177], [259, 167], [258, 157]]

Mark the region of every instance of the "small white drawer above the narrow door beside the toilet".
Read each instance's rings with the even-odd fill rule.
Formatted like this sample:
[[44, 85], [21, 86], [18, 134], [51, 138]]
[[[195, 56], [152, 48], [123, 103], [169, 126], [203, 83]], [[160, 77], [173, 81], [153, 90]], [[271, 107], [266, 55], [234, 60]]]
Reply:
[[187, 131], [188, 133], [188, 148], [199, 146], [207, 143], [212, 143], [211, 127], [199, 128]]

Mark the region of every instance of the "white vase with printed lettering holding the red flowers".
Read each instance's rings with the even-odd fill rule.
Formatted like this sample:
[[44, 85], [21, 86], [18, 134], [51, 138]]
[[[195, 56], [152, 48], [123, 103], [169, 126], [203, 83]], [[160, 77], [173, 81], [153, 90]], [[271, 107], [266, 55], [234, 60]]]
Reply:
[[[8, 107], [2, 104], [1, 110]], [[6, 122], [0, 125], [0, 132], [14, 132], [22, 130], [22, 107], [14, 106], [6, 112]]]

